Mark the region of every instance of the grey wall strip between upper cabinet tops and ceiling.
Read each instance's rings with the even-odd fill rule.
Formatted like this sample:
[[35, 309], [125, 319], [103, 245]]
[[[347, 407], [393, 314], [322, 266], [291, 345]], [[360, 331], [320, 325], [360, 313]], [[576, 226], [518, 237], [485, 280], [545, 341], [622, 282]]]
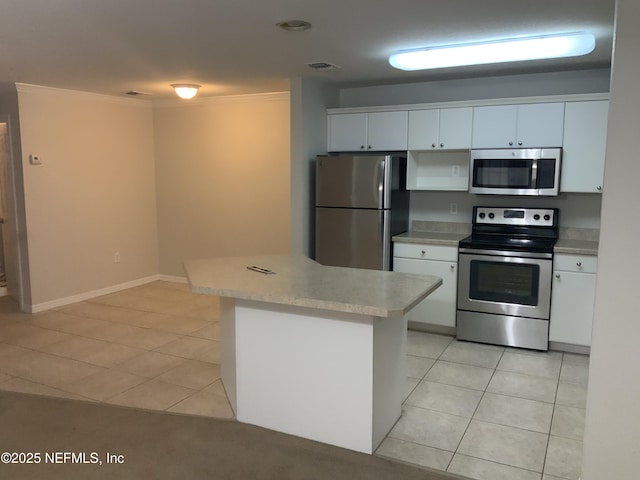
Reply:
[[335, 107], [366, 107], [609, 91], [609, 69], [464, 78], [340, 90]]

